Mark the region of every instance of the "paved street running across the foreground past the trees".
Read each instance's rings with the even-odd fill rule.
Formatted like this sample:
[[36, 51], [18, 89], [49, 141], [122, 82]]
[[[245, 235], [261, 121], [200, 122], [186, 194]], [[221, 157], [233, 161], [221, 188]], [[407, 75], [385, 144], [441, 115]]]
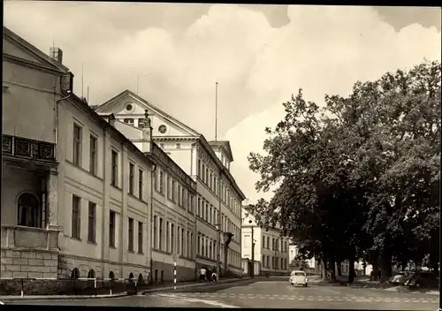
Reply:
[[[223, 285], [223, 287], [226, 287]], [[13, 304], [116, 307], [283, 307], [379, 310], [436, 310], [438, 296], [340, 286], [292, 287], [286, 281], [260, 281], [219, 290], [151, 293], [145, 296], [98, 300], [16, 301]]]

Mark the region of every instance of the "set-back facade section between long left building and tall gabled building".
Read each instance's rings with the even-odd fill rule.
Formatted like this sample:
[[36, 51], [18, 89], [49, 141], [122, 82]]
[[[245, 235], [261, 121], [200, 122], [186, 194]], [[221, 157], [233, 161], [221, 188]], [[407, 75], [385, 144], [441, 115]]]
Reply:
[[151, 203], [151, 275], [153, 282], [173, 280], [174, 265], [177, 278], [192, 280], [195, 275], [195, 200], [196, 182], [162, 148], [152, 141], [149, 115], [142, 128], [116, 120], [114, 126], [127, 137], [140, 135], [137, 142], [154, 163]]

